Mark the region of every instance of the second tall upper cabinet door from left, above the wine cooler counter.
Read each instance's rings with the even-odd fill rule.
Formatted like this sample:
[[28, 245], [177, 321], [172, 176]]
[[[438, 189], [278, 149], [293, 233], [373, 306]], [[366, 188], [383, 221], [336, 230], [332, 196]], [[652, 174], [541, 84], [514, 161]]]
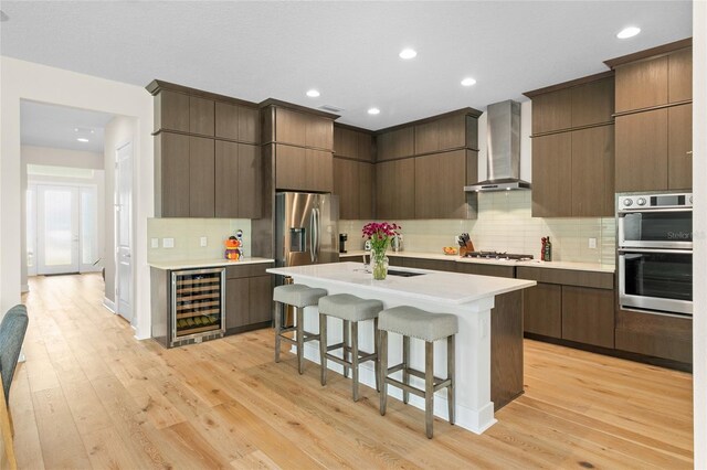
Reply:
[[189, 137], [189, 216], [213, 217], [214, 140]]

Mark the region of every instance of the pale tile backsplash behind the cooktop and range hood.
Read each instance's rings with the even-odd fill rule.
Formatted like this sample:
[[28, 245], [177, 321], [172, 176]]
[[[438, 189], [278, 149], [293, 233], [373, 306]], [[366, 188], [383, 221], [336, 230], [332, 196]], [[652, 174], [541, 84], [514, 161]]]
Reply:
[[[468, 232], [479, 250], [520, 253], [540, 257], [540, 238], [550, 236], [552, 259], [558, 261], [615, 263], [614, 217], [532, 217], [530, 191], [504, 191], [478, 194], [478, 218], [389, 221], [402, 225], [404, 249], [440, 252], [457, 246], [456, 235]], [[339, 232], [348, 233], [349, 249], [361, 249], [361, 227], [369, 221], [341, 221]], [[589, 248], [589, 239], [597, 247]]]

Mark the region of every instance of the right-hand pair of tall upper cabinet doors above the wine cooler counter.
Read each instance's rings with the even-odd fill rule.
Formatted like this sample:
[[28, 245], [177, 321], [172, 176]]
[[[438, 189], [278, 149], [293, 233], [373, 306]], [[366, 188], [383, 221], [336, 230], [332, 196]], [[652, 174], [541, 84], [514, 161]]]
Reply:
[[214, 212], [222, 218], [258, 218], [262, 196], [261, 149], [215, 141]]

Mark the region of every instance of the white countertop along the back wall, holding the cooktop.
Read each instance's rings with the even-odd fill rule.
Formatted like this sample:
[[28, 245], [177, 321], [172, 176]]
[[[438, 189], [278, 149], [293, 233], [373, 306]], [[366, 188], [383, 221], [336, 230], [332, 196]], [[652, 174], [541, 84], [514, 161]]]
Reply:
[[[339, 257], [357, 256], [361, 259], [363, 250], [351, 250], [348, 253], [339, 254]], [[598, 273], [614, 273], [614, 265], [603, 265], [601, 263], [576, 263], [576, 261], [541, 261], [539, 259], [530, 259], [527, 261], [515, 261], [506, 259], [485, 259], [485, 258], [462, 258], [458, 255], [444, 255], [441, 253], [430, 252], [392, 252], [388, 250], [386, 254], [388, 257], [402, 257], [402, 258], [421, 258], [421, 259], [441, 259], [445, 261], [455, 263], [475, 263], [483, 265], [502, 265], [502, 266], [526, 266], [550, 269], [573, 269], [580, 271], [598, 271]]]

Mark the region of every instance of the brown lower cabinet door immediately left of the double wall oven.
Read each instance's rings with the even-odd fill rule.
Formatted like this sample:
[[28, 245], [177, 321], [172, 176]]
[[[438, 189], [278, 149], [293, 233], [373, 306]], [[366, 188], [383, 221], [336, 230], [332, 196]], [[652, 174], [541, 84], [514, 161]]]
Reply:
[[562, 286], [562, 339], [614, 346], [614, 291]]

